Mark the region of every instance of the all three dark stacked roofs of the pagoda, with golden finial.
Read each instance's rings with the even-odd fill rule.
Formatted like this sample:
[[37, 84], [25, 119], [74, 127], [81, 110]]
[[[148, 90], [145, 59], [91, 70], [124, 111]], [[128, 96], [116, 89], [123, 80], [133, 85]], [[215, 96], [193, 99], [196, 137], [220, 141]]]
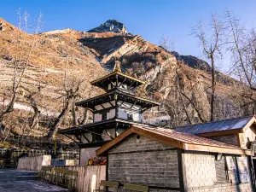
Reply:
[[100, 147], [102, 144], [106, 143], [106, 141], [99, 141], [96, 143], [88, 141], [88, 143], [82, 143], [81, 137], [83, 136], [87, 140], [87, 137], [85, 137], [87, 133], [101, 134], [103, 130], [106, 131], [110, 128], [127, 130], [131, 125], [143, 125], [141, 120], [137, 121], [133, 119], [123, 119], [122, 116], [118, 115], [118, 108], [123, 104], [127, 105], [127, 103], [129, 103], [130, 106], [127, 108], [128, 110], [137, 108], [137, 113], [143, 113], [148, 108], [160, 105], [159, 102], [154, 102], [140, 96], [135, 96], [131, 90], [139, 85], [145, 84], [145, 82], [121, 73], [118, 63], [116, 63], [113, 73], [109, 73], [108, 75], [100, 79], [96, 79], [90, 83], [102, 88], [103, 90], [106, 90], [107, 93], [81, 102], [76, 102], [76, 106], [88, 108], [94, 113], [94, 115], [96, 113], [106, 113], [112, 109], [115, 111], [115, 114], [113, 113], [113, 116], [109, 117], [108, 119], [102, 118], [100, 121], [96, 121], [94, 119], [93, 123], [74, 126], [58, 131], [58, 133], [67, 137], [68, 135], [77, 137], [77, 139], [80, 141], [79, 145], [81, 148], [85, 148], [85, 146], [86, 148]]

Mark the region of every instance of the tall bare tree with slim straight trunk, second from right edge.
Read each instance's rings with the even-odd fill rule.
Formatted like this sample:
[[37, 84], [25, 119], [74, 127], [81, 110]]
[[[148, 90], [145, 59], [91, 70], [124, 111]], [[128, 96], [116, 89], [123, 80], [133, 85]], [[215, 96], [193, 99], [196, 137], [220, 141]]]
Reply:
[[204, 31], [204, 26], [202, 21], [198, 22], [198, 26], [192, 29], [192, 33], [195, 38], [198, 38], [199, 44], [202, 48], [203, 54], [206, 55], [207, 59], [211, 61], [211, 74], [212, 74], [212, 84], [211, 84], [211, 99], [210, 99], [210, 120], [214, 120], [214, 102], [215, 102], [215, 90], [216, 90], [216, 61], [221, 56], [221, 45], [222, 45], [222, 35], [224, 26], [220, 20], [218, 20], [217, 15], [212, 15], [209, 29], [210, 36], [207, 37], [207, 33]]

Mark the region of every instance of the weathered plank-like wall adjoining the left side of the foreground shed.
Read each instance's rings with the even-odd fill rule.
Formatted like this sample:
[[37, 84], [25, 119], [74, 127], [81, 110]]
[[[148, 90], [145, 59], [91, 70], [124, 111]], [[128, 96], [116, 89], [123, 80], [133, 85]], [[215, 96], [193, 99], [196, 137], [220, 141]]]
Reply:
[[79, 172], [75, 187], [78, 192], [93, 192], [99, 189], [101, 180], [106, 180], [106, 166], [54, 166]]

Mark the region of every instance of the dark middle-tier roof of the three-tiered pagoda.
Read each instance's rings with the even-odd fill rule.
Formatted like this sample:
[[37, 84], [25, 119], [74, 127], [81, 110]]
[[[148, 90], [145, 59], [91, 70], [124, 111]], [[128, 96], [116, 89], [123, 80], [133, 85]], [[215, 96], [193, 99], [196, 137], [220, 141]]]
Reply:
[[113, 90], [101, 96], [96, 96], [82, 102], [76, 102], [76, 106], [89, 108], [92, 111], [95, 111], [96, 105], [101, 105], [102, 103], [106, 102], [109, 102], [110, 105], [113, 105], [113, 101], [130, 102], [141, 106], [143, 109], [152, 108], [160, 105], [159, 102], [154, 102], [152, 100], [148, 100], [140, 96], [134, 96], [125, 92], [121, 92], [119, 90]]

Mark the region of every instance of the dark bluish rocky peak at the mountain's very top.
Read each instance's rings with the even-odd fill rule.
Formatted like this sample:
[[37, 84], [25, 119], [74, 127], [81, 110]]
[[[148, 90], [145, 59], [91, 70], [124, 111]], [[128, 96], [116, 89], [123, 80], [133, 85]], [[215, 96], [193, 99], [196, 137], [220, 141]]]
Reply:
[[117, 32], [117, 33], [127, 33], [125, 25], [118, 20], [107, 20], [102, 23], [101, 26], [97, 26], [89, 30], [88, 32]]

